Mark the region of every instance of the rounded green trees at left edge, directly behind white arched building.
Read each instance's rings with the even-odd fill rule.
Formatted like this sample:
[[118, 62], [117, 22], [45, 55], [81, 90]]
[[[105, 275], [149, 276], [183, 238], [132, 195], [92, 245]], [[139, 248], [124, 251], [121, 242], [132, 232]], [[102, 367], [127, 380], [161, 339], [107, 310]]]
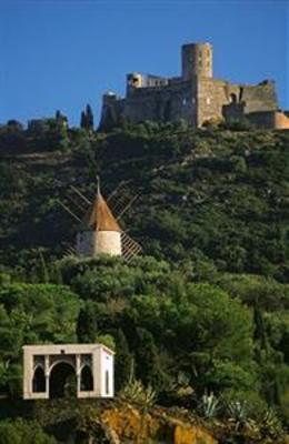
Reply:
[[0, 287], [0, 392], [20, 394], [21, 347], [76, 341], [80, 302], [68, 287], [3, 283]]

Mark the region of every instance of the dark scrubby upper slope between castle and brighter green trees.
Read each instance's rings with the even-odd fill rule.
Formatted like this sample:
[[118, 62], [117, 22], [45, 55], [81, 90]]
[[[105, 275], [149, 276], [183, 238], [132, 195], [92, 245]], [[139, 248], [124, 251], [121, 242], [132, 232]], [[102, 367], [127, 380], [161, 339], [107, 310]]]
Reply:
[[138, 195], [122, 226], [144, 254], [179, 261], [200, 253], [223, 271], [289, 282], [288, 133], [148, 124], [22, 138], [9, 150], [0, 138], [3, 263], [13, 250], [20, 264], [32, 249], [61, 255], [73, 244], [77, 224], [58, 199], [71, 208], [70, 184], [91, 196], [99, 173], [104, 195], [122, 181]]

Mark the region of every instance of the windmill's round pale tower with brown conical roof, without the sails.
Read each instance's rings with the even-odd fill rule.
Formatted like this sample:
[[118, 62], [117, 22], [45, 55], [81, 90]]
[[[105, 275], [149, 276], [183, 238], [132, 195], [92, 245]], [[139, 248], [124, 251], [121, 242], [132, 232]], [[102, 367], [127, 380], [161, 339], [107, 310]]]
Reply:
[[77, 235], [79, 254], [87, 256], [121, 255], [121, 229], [101, 195], [99, 185], [94, 202], [84, 222], [84, 229]]

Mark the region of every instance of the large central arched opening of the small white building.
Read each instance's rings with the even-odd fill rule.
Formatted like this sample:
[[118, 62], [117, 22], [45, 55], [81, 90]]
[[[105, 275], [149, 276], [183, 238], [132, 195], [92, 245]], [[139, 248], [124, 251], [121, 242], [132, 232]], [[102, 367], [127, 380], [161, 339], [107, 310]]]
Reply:
[[77, 395], [77, 376], [71, 364], [60, 362], [53, 366], [49, 379], [49, 397], [69, 397]]

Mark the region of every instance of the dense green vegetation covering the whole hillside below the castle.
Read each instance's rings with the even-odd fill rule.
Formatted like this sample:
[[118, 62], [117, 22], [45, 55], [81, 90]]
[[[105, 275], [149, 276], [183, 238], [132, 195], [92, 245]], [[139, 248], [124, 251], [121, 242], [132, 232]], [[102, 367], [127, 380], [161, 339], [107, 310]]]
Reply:
[[[198, 411], [213, 392], [255, 421], [270, 407], [288, 427], [288, 142], [183, 123], [1, 128], [2, 395], [21, 394], [23, 344], [103, 341], [117, 390], [133, 374], [160, 404]], [[78, 223], [59, 200], [73, 206], [71, 184], [91, 198], [97, 173], [103, 194], [122, 181], [138, 194], [121, 220], [143, 246], [129, 265], [63, 258]]]

